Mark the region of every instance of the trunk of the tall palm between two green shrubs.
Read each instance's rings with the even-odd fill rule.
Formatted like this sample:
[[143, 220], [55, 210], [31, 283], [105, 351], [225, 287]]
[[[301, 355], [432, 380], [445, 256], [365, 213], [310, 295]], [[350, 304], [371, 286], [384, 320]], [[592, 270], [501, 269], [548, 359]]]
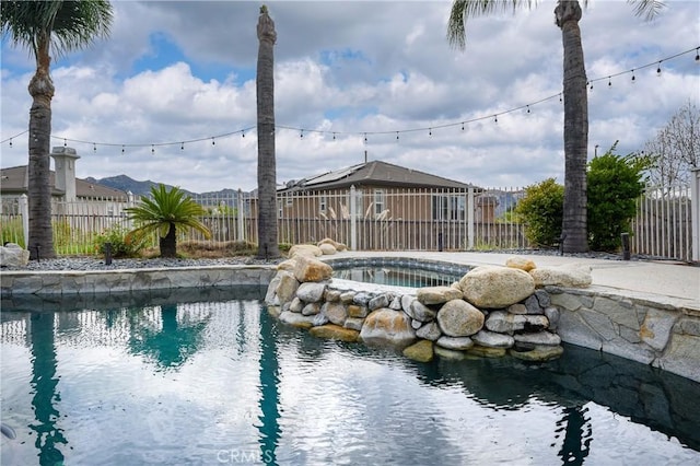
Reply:
[[586, 162], [588, 95], [581, 45], [581, 7], [576, 0], [559, 0], [555, 9], [564, 53], [564, 206], [563, 252], [588, 249], [586, 228]]

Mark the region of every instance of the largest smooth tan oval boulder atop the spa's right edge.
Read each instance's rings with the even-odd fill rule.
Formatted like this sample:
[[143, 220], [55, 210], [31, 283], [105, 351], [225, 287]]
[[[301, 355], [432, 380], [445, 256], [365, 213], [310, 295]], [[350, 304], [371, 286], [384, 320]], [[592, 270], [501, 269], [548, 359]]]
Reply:
[[533, 294], [535, 280], [521, 269], [483, 266], [462, 277], [459, 288], [464, 299], [477, 307], [503, 308]]

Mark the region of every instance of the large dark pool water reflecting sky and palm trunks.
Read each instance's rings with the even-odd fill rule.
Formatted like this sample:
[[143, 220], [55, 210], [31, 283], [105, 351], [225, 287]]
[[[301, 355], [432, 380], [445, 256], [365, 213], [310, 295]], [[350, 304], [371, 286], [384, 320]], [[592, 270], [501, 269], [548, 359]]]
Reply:
[[167, 293], [3, 302], [3, 465], [700, 464], [700, 384], [642, 364], [417, 363]]

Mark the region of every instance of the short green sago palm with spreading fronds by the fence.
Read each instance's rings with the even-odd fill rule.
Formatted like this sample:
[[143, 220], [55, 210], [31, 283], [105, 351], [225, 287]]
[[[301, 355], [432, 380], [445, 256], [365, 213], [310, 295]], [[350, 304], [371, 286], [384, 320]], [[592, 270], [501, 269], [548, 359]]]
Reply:
[[151, 198], [142, 198], [140, 206], [126, 211], [138, 224], [129, 232], [130, 236], [158, 233], [161, 257], [177, 256], [177, 229], [194, 229], [211, 237], [209, 229], [197, 220], [207, 210], [177, 187], [167, 190], [163, 184], [152, 186]]

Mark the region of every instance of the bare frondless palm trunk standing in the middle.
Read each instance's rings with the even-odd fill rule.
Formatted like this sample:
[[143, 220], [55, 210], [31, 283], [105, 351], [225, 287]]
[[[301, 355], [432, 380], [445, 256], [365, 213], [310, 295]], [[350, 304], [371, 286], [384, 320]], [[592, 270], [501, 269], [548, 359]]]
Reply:
[[280, 256], [277, 243], [277, 167], [275, 162], [275, 22], [260, 7], [258, 18], [258, 257]]

